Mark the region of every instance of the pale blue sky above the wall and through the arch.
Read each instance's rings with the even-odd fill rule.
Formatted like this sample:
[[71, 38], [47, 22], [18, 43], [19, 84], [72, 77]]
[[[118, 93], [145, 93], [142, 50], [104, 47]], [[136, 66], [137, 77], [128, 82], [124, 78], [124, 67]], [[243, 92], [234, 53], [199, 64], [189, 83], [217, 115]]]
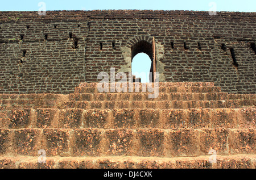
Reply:
[[[256, 12], [256, 0], [1, 0], [0, 11], [48, 10], [193, 10]], [[150, 58], [139, 53], [133, 58], [132, 72], [149, 72]], [[135, 74], [135, 73], [134, 73]], [[148, 77], [148, 76], [145, 76]], [[142, 82], [148, 78], [142, 77]]]

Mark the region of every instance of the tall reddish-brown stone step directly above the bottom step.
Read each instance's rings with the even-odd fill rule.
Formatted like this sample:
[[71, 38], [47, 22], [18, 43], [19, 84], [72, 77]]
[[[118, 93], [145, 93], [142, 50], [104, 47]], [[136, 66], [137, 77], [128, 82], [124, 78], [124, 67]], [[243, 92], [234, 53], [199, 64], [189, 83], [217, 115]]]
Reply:
[[207, 156], [255, 154], [255, 128], [1, 129], [1, 156]]

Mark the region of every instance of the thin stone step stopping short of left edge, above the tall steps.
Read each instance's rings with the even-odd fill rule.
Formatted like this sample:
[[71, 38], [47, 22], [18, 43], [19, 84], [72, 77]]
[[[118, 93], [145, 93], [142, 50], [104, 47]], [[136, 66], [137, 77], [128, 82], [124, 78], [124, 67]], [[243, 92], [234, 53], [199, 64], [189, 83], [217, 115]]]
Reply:
[[221, 101], [67, 101], [59, 108], [113, 109], [113, 108], [238, 108], [254, 106], [252, 100], [221, 100]]

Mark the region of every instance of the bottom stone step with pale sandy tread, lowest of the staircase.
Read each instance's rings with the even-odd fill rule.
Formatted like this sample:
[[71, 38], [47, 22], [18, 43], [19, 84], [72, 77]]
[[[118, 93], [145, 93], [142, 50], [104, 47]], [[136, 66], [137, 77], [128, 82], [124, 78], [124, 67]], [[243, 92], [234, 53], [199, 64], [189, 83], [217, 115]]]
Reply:
[[[214, 160], [216, 160], [214, 162]], [[39, 163], [41, 161], [41, 163]], [[0, 169], [255, 169], [256, 155], [199, 157], [46, 157], [1, 156]]]

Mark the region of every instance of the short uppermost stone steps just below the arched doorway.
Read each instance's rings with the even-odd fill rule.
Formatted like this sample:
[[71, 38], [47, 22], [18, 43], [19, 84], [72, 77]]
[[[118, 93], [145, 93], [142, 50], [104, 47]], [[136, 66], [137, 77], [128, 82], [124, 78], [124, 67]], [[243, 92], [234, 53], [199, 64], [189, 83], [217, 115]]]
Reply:
[[75, 87], [75, 93], [122, 93], [122, 92], [148, 92], [148, 93], [218, 93], [221, 87], [214, 86], [213, 82], [113, 82], [113, 83], [80, 83]]

